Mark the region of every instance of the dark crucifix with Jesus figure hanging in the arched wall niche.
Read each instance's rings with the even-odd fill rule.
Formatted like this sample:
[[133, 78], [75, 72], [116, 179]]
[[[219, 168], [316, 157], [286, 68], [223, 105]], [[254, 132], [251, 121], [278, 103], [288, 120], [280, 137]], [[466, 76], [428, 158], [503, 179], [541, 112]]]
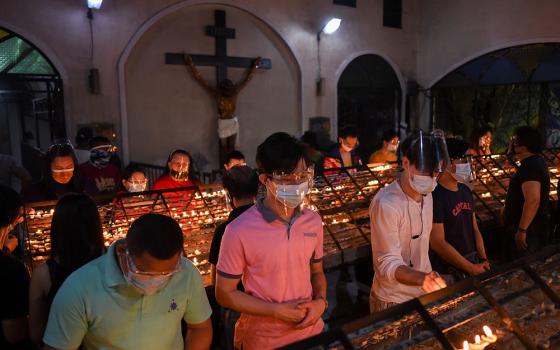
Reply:
[[[166, 53], [166, 64], [187, 65], [193, 78], [216, 100], [218, 107], [218, 137], [220, 140], [220, 164], [226, 155], [235, 149], [239, 133], [239, 121], [236, 114], [237, 96], [252, 79], [256, 69], [271, 69], [272, 63], [267, 58], [231, 57], [227, 55], [227, 39], [235, 39], [235, 29], [226, 27], [226, 13], [214, 11], [214, 25], [206, 26], [206, 35], [215, 38], [216, 54], [196, 55], [183, 53]], [[216, 87], [206, 82], [196, 66], [216, 67]], [[234, 84], [227, 77], [228, 67], [249, 69], [245, 78]]]

